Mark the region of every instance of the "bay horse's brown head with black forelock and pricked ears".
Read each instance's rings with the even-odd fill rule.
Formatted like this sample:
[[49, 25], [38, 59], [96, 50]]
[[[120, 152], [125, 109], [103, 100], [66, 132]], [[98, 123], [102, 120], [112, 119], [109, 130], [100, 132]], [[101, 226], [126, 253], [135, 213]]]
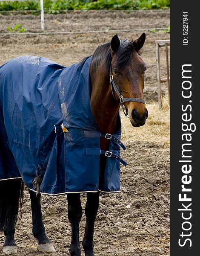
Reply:
[[[111, 79], [118, 88], [123, 101], [125, 113], [129, 115], [131, 124], [134, 127], [144, 125], [148, 117], [145, 104], [137, 99], [143, 99], [144, 73], [146, 64], [140, 57], [140, 49], [145, 42], [145, 33], [135, 41], [119, 40], [115, 35], [111, 40]], [[117, 89], [116, 89], [117, 90]], [[117, 99], [116, 90], [114, 96]], [[136, 98], [127, 99], [127, 98]], [[130, 101], [129, 101], [130, 100]]]

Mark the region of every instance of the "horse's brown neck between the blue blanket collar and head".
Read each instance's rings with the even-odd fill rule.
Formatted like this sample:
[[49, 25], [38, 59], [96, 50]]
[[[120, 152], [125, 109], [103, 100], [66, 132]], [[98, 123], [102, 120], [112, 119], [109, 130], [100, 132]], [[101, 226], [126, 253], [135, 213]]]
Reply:
[[102, 133], [114, 134], [117, 129], [117, 115], [120, 104], [113, 98], [110, 87], [110, 70], [103, 65], [92, 70], [91, 76], [91, 109]]

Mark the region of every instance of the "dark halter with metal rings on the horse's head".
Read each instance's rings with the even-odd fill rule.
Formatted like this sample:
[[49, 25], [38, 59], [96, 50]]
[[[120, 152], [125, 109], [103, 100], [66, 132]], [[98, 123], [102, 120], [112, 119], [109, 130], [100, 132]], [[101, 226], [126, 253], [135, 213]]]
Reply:
[[112, 95], [113, 95], [114, 99], [118, 102], [118, 100], [115, 98], [113, 90], [112, 90], [112, 88], [114, 88], [115, 92], [117, 93], [117, 96], [120, 99], [120, 104], [121, 104], [121, 107], [123, 109], [123, 113], [125, 114], [126, 117], [129, 117], [129, 114], [128, 114], [127, 110], [126, 110], [126, 112], [124, 111], [124, 108], [125, 108], [124, 102], [141, 102], [144, 105], [146, 105], [146, 101], [144, 99], [140, 99], [140, 98], [124, 98], [121, 95], [120, 90], [117, 88], [117, 85], [115, 84], [115, 82], [113, 80], [113, 75], [112, 75], [112, 69], [111, 68], [110, 68], [110, 84], [111, 84]]

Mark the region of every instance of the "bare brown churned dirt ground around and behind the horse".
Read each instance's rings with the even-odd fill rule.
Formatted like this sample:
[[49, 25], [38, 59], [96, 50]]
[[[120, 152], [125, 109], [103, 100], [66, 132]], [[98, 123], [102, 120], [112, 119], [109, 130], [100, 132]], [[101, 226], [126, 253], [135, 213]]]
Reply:
[[[40, 16], [0, 15], [0, 33], [9, 32], [7, 27], [14, 27], [17, 23], [25, 27], [26, 32], [40, 31]], [[133, 32], [117, 32], [120, 38], [127, 39], [136, 39], [142, 32], [146, 32], [147, 38], [142, 58], [147, 64], [144, 95], [149, 105], [157, 101], [155, 40], [170, 39], [170, 36], [144, 29], [169, 25], [169, 12], [91, 12], [45, 15], [46, 32], [141, 29]], [[103, 44], [110, 41], [113, 35], [114, 33], [111, 32], [34, 36], [0, 35], [0, 64], [19, 55], [37, 55], [69, 66], [91, 55], [98, 46], [98, 39], [100, 44]], [[163, 50], [161, 50], [161, 63], [164, 77], [166, 62]], [[163, 93], [165, 92], [166, 84], [163, 84]], [[124, 116], [122, 116], [123, 121], [125, 121]], [[129, 165], [121, 168], [121, 192], [100, 196], [94, 232], [95, 256], [169, 255], [169, 141], [160, 141], [156, 136], [153, 139], [151, 137], [151, 140], [148, 137], [140, 140], [140, 137], [132, 136], [134, 129], [136, 128], [129, 129], [130, 138], [126, 134], [123, 140], [127, 150], [121, 152], [122, 158]], [[142, 132], [143, 130], [141, 130], [141, 137]], [[82, 195], [83, 211], [85, 202], [86, 195]], [[67, 218], [66, 197], [43, 195], [42, 203], [46, 233], [56, 249], [56, 253], [52, 255], [68, 256], [71, 229]], [[85, 215], [83, 214], [80, 223], [80, 241], [83, 239], [84, 225]], [[51, 255], [39, 253], [36, 250], [36, 241], [31, 234], [30, 200], [27, 189], [25, 189], [22, 220], [16, 228], [15, 239], [19, 256]], [[0, 234], [0, 247], [3, 246], [3, 242], [4, 236]], [[3, 255], [1, 251], [0, 255]]]

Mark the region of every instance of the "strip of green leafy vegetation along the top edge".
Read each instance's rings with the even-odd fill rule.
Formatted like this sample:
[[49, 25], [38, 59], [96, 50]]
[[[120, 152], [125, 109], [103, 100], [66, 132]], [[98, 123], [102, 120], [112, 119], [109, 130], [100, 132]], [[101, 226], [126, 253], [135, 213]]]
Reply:
[[[170, 0], [44, 0], [44, 10], [57, 13], [57, 10], [138, 10], [169, 9]], [[40, 1], [0, 2], [0, 11], [40, 10]]]

